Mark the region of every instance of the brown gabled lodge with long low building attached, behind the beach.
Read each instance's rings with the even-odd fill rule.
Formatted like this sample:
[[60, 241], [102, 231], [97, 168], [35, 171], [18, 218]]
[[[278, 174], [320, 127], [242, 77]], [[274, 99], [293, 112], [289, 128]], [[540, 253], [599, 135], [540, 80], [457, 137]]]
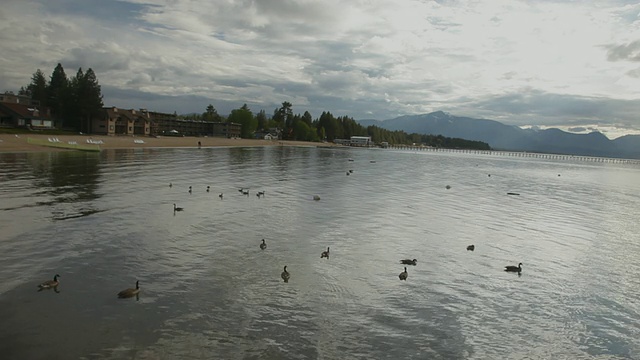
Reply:
[[100, 135], [136, 136], [219, 136], [240, 137], [242, 125], [228, 122], [178, 119], [176, 114], [147, 111], [146, 109], [118, 109], [105, 107], [93, 119], [91, 133]]

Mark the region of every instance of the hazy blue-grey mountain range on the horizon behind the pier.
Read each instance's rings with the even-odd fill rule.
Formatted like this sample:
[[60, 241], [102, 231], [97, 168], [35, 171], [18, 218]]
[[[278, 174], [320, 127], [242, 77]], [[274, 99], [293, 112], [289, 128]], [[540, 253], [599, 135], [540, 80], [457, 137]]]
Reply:
[[625, 135], [610, 140], [600, 132], [574, 134], [555, 128], [523, 129], [495, 120], [453, 116], [442, 111], [382, 121], [358, 120], [358, 123], [388, 130], [402, 130], [409, 134], [433, 134], [483, 141], [495, 150], [640, 159], [640, 135]]

